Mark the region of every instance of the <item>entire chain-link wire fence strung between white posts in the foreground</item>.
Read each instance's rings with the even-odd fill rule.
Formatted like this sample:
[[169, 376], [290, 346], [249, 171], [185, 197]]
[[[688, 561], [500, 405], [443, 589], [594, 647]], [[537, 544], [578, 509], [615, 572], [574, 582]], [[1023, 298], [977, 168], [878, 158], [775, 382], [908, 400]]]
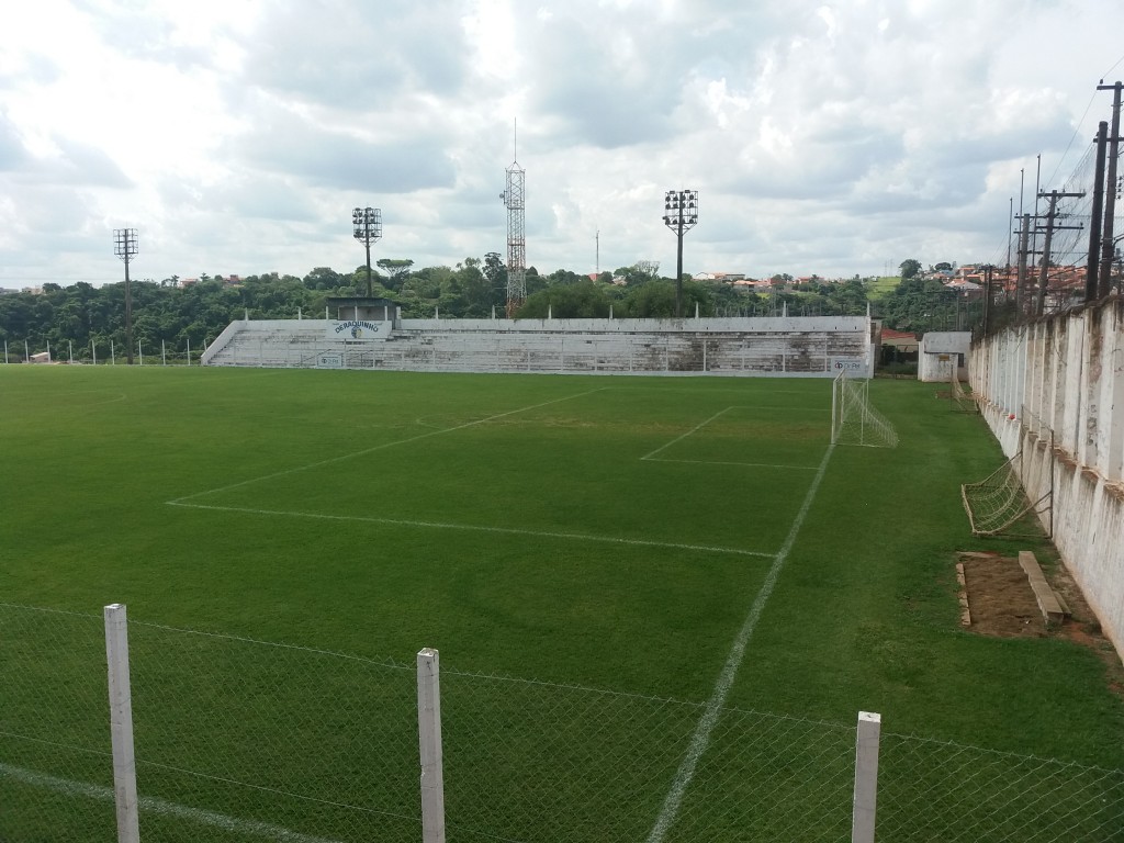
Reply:
[[[102, 618], [0, 605], [0, 840], [111, 840]], [[883, 733], [856, 777], [854, 725], [448, 669], [428, 837], [415, 665], [137, 622], [128, 650], [140, 840], [869, 841], [859, 779], [879, 841], [1124, 840], [1121, 770]]]

